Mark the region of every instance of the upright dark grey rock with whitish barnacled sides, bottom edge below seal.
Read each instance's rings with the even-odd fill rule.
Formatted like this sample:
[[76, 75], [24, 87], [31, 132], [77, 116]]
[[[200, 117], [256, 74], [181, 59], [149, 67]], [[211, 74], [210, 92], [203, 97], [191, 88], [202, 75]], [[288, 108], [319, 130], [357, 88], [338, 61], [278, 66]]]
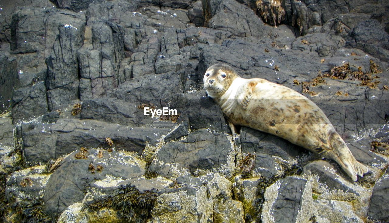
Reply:
[[[318, 216], [313, 207], [312, 189], [306, 179], [288, 176], [280, 179], [266, 189], [263, 204], [264, 222], [304, 222], [311, 216]], [[318, 219], [319, 220], [319, 219]], [[329, 222], [320, 219], [320, 222]]]

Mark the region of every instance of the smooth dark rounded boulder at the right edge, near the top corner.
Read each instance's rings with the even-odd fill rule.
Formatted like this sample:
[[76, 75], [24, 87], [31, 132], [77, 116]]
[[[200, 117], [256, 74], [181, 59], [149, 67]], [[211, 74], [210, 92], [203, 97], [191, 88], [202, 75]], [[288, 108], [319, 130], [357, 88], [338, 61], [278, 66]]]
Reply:
[[389, 61], [389, 48], [386, 46], [389, 34], [377, 20], [368, 19], [359, 23], [350, 33], [350, 37], [353, 40], [349, 43], [352, 47], [362, 49], [382, 61]]

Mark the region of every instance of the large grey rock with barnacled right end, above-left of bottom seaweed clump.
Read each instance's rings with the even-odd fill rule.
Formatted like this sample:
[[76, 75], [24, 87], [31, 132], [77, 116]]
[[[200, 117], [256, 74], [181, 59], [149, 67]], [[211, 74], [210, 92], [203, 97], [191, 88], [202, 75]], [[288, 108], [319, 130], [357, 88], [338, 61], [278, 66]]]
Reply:
[[[123, 151], [102, 151], [102, 158], [98, 157], [98, 152], [90, 149], [87, 158], [77, 159], [75, 156], [81, 153], [77, 150], [64, 158], [46, 184], [43, 199], [47, 214], [58, 216], [69, 205], [82, 201], [87, 187], [107, 174], [130, 179], [145, 172], [137, 158]], [[96, 169], [98, 165], [103, 167], [102, 170]]]

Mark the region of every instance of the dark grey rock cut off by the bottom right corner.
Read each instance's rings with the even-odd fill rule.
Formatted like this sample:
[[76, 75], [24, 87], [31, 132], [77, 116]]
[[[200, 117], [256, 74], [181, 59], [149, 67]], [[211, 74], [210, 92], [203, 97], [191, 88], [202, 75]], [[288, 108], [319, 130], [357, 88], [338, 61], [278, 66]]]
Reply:
[[387, 193], [389, 190], [389, 170], [378, 179], [374, 186], [373, 194], [371, 195], [368, 218], [374, 221], [389, 221], [389, 209], [387, 205]]

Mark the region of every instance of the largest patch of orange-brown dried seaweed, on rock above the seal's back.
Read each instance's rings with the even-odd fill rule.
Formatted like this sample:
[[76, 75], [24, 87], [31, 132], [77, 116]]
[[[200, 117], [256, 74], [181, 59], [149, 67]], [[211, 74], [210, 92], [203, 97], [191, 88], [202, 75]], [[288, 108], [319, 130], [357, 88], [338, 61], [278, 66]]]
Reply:
[[363, 72], [362, 67], [358, 67], [357, 71], [352, 72], [350, 70], [350, 64], [345, 63], [342, 66], [333, 67], [329, 74], [325, 77], [331, 77], [333, 79], [346, 79], [362, 81], [359, 85], [368, 86], [369, 88], [377, 88], [379, 81], [373, 81], [375, 78], [379, 78], [377, 75], [373, 77], [373, 74], [382, 72], [378, 69], [378, 65], [370, 60], [370, 71]]

